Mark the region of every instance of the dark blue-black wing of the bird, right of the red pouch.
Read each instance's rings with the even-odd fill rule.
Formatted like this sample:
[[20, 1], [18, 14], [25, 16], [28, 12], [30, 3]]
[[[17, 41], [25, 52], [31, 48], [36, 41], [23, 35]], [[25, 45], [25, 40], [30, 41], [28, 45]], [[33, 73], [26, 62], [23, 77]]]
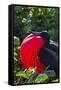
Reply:
[[58, 75], [59, 71], [58, 54], [54, 50], [51, 50], [50, 48], [44, 48], [42, 52], [40, 52], [39, 56], [42, 58], [44, 64], [49, 65], [50, 69], [55, 70], [56, 74]]

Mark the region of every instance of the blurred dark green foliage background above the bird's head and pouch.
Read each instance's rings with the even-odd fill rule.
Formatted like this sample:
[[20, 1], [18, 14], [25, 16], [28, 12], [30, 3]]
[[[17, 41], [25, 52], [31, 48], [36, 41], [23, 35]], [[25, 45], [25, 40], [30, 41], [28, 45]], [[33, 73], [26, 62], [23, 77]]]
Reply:
[[22, 40], [29, 30], [46, 30], [50, 39], [58, 42], [59, 8], [14, 6], [14, 32]]

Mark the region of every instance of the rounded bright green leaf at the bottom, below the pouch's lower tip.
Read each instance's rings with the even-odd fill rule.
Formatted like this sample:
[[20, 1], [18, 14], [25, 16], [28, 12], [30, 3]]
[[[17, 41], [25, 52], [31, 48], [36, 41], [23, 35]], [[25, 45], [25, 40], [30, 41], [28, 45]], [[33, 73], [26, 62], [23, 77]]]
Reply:
[[35, 83], [45, 83], [48, 80], [49, 79], [47, 74], [39, 74], [35, 79]]

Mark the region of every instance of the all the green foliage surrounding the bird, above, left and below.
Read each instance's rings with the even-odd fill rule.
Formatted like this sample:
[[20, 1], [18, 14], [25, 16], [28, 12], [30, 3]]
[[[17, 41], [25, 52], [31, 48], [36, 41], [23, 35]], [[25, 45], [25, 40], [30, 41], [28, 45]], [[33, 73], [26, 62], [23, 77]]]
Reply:
[[[55, 80], [54, 70], [45, 69], [40, 74], [35, 68], [24, 69], [19, 55], [20, 44], [30, 30], [47, 30], [50, 39], [58, 42], [59, 21], [58, 8], [15, 6], [14, 7], [14, 84], [48, 83]], [[46, 67], [47, 68], [47, 67]], [[53, 74], [52, 74], [53, 73]]]

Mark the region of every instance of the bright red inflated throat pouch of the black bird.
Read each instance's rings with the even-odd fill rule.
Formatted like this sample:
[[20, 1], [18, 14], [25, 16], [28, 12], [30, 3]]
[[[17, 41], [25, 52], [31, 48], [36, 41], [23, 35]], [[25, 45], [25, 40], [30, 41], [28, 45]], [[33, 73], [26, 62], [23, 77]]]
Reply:
[[46, 43], [43, 37], [35, 34], [30, 34], [23, 40], [20, 47], [20, 56], [24, 68], [36, 67], [36, 73], [44, 71], [45, 65], [38, 55]]

